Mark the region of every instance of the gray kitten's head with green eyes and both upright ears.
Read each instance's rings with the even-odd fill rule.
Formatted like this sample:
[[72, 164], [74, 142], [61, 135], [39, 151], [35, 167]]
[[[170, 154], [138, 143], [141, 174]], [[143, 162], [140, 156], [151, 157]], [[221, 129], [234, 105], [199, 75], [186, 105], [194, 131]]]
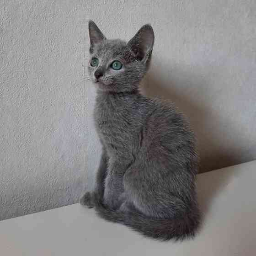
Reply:
[[144, 25], [125, 43], [108, 40], [93, 21], [89, 21], [91, 59], [88, 65], [91, 80], [102, 91], [137, 90], [146, 74], [154, 45], [154, 31]]

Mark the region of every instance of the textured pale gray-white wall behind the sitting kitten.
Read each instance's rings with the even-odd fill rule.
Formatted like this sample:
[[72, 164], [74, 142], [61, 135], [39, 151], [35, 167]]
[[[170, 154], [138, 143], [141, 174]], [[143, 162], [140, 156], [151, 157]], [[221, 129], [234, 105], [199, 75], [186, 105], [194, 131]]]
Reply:
[[152, 24], [145, 93], [188, 115], [202, 171], [256, 159], [255, 0], [1, 0], [0, 17], [0, 219], [93, 187], [89, 19], [110, 38]]

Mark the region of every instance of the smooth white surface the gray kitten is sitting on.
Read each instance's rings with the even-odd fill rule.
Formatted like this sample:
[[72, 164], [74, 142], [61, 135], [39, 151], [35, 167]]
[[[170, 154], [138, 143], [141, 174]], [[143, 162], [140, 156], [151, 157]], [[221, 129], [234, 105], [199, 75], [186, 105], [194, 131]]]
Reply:
[[159, 242], [79, 204], [0, 222], [3, 256], [255, 256], [256, 161], [198, 176], [205, 214], [194, 240]]

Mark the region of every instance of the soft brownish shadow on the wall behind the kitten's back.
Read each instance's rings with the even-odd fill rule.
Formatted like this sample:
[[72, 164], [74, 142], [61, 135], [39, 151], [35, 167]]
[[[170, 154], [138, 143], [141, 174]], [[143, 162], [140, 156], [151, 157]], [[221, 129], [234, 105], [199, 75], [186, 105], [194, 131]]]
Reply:
[[[157, 66], [154, 64], [154, 67]], [[170, 73], [167, 76], [154, 67], [149, 70], [142, 83], [142, 92], [150, 97], [160, 97], [175, 102], [176, 106], [188, 117], [197, 136], [201, 158], [200, 172], [240, 164], [242, 159], [236, 153], [239, 149], [236, 147], [227, 150], [223, 142], [225, 134], [214, 130], [214, 127], [225, 127], [225, 129], [229, 127], [233, 136], [239, 136], [228, 117], [222, 120], [211, 108], [210, 103], [205, 104], [203, 97], [207, 91], [205, 90], [208, 86], [207, 81], [204, 78], [200, 80], [200, 75], [192, 77], [191, 72], [186, 74], [186, 71], [177, 67], [171, 71], [173, 74]], [[184, 91], [186, 88], [184, 84], [189, 86], [189, 90]], [[200, 88], [204, 88], [204, 94], [200, 93]]]

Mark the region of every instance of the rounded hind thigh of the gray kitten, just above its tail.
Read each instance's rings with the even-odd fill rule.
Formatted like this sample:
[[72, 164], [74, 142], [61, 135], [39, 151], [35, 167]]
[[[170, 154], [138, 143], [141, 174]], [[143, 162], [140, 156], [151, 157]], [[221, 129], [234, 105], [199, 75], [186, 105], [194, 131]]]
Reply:
[[176, 188], [172, 187], [171, 180], [168, 181], [170, 178], [160, 167], [138, 160], [123, 177], [124, 190], [128, 202], [139, 213], [153, 218], [172, 218], [176, 210], [184, 208], [184, 202], [175, 196]]

